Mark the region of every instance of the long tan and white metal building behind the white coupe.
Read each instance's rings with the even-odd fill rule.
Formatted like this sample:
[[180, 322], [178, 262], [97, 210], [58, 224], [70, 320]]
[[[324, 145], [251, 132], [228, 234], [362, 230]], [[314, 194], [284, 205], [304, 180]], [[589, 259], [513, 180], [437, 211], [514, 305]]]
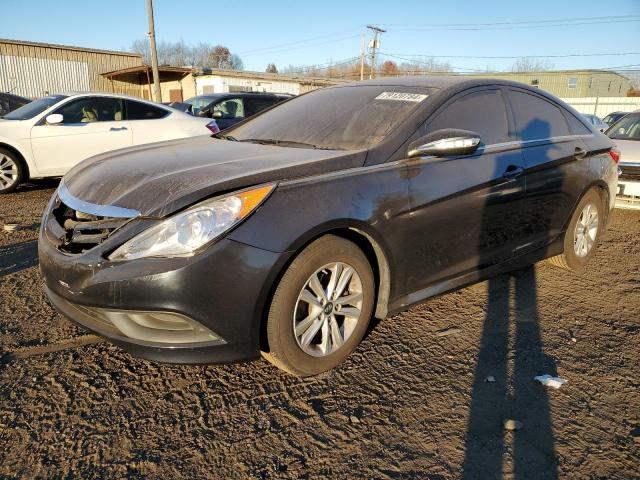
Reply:
[[88, 91], [140, 96], [139, 87], [100, 74], [141, 64], [135, 53], [0, 39], [0, 92], [28, 98]]

